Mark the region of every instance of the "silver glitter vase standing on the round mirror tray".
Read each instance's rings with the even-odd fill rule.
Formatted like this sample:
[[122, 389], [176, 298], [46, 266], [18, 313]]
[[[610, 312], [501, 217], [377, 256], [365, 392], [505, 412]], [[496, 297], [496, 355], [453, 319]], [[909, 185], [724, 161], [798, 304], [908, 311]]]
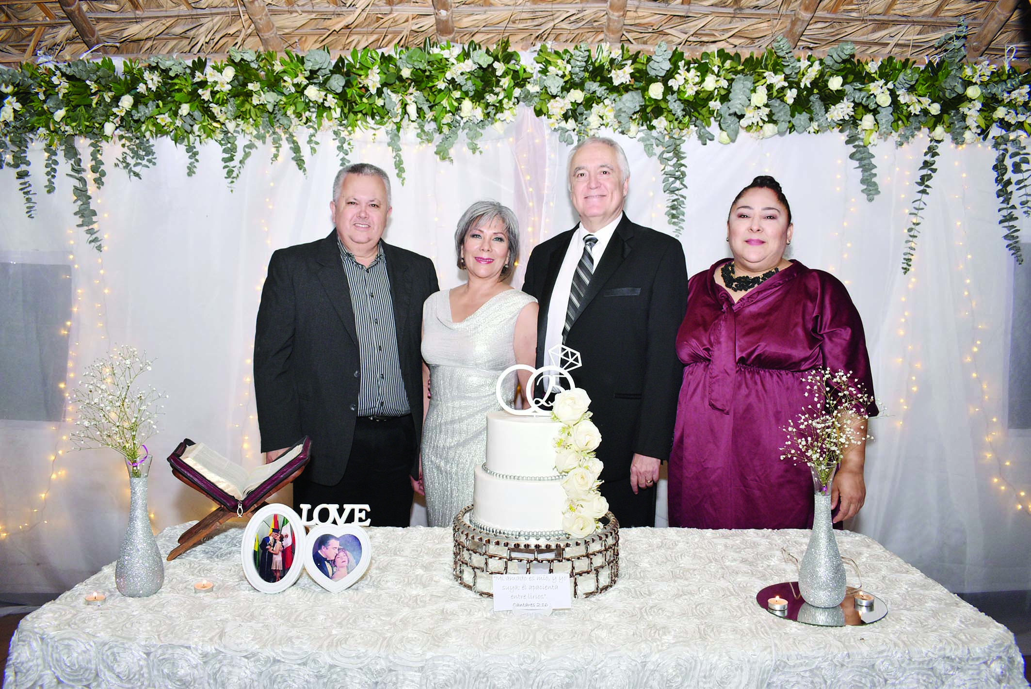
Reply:
[[830, 487], [833, 482], [833, 471], [826, 485], [821, 484], [813, 472], [816, 514], [809, 546], [798, 567], [798, 588], [802, 598], [816, 608], [835, 608], [844, 600], [844, 564], [831, 524]]

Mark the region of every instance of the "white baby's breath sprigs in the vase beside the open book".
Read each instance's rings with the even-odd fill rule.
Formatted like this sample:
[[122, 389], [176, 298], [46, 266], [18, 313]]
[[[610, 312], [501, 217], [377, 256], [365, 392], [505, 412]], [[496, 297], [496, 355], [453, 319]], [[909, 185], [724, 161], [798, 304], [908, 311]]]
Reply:
[[133, 387], [152, 363], [135, 348], [117, 347], [87, 366], [71, 394], [78, 413], [72, 441], [81, 449], [114, 450], [134, 479], [146, 475], [151, 456], [143, 442], [158, 432], [156, 403], [165, 397], [153, 387]]

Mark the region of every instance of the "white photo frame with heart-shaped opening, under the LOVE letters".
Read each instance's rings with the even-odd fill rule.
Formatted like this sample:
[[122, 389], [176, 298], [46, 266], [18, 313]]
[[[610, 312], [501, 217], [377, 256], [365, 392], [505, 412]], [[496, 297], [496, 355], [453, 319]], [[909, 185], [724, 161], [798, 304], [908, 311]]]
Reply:
[[357, 582], [369, 568], [369, 536], [354, 524], [322, 524], [308, 531], [304, 568], [319, 586], [338, 593]]

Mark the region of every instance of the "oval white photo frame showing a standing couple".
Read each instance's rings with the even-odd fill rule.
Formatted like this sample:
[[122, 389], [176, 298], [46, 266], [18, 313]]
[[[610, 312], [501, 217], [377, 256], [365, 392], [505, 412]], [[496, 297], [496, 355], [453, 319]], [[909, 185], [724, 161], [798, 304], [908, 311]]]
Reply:
[[[276, 528], [277, 536], [273, 533]], [[247, 522], [240, 540], [240, 563], [247, 583], [262, 593], [289, 589], [304, 569], [307, 543], [307, 533], [296, 512], [278, 502], [266, 504]]]

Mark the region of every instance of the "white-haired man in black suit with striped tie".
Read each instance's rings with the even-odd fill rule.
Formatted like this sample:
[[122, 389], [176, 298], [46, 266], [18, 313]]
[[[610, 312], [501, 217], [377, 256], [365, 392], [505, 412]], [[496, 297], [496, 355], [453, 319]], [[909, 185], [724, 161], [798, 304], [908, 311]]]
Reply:
[[537, 365], [565, 343], [601, 431], [601, 494], [622, 526], [655, 525], [655, 482], [669, 458], [683, 366], [676, 331], [688, 302], [680, 243], [623, 212], [626, 154], [611, 139], [580, 142], [569, 159], [579, 225], [533, 250], [523, 291], [537, 298]]

